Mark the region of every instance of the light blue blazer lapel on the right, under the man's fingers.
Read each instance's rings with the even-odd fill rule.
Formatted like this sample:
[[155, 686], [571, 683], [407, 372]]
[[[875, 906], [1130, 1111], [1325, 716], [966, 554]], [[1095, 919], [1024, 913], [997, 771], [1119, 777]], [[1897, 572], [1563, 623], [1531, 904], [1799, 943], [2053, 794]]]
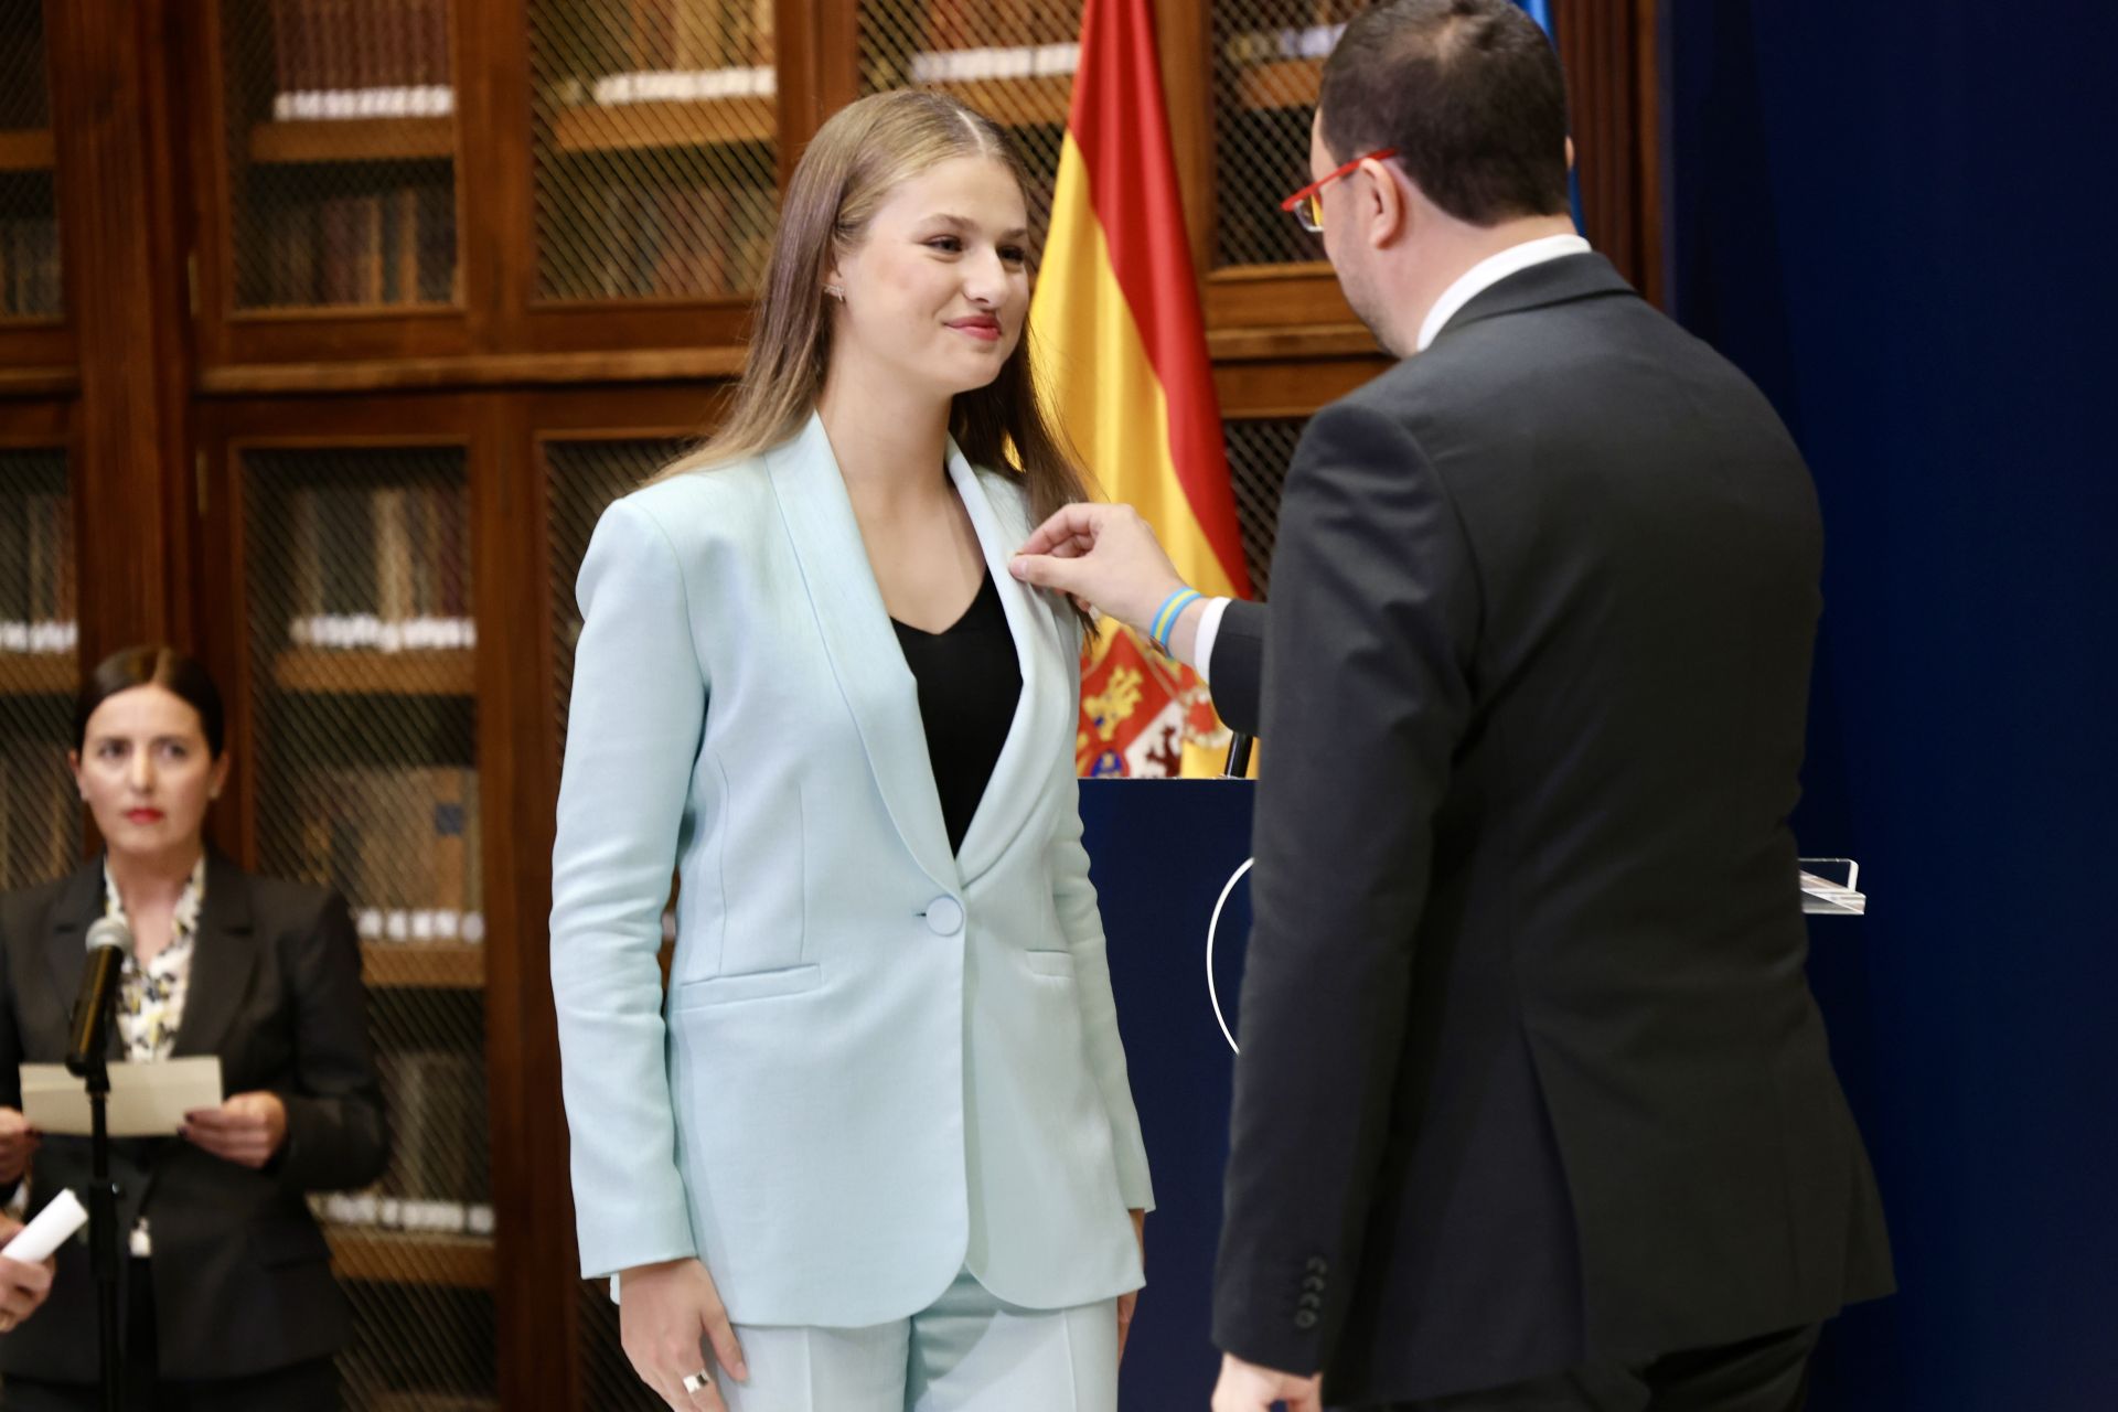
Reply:
[[1000, 586], [1008, 633], [1015, 637], [1015, 660], [1023, 673], [1023, 694], [1015, 703], [1008, 739], [1000, 747], [1000, 760], [993, 762], [993, 775], [985, 781], [985, 794], [970, 815], [964, 847], [957, 851], [957, 866], [968, 881], [1000, 862], [1036, 811], [1053, 768], [1053, 752], [1067, 749], [1059, 730], [1063, 707], [1070, 703], [1063, 701], [1067, 673], [1059, 624], [1051, 610], [1008, 574], [1008, 559], [1029, 538], [1029, 525], [1017, 523], [1017, 517], [1004, 514], [1002, 506], [987, 497], [985, 483], [964, 459], [955, 438], [949, 438], [949, 476], [964, 508], [970, 510], [972, 529], [979, 531], [985, 569]]

